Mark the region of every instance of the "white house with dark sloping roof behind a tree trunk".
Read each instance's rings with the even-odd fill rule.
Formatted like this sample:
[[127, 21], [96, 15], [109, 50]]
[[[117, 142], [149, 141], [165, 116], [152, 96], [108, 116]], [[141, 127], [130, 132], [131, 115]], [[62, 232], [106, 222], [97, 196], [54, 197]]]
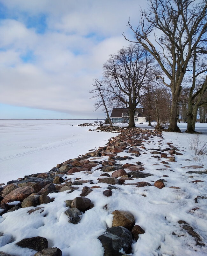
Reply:
[[[134, 122], [146, 122], [146, 109], [136, 108], [134, 113]], [[127, 108], [113, 108], [111, 112], [112, 123], [128, 123], [129, 122], [129, 109]]]

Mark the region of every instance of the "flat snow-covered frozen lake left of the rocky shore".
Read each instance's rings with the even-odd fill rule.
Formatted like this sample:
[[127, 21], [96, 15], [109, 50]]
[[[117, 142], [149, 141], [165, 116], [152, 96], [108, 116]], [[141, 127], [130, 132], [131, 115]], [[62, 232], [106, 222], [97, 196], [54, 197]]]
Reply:
[[[0, 183], [47, 172], [104, 145], [114, 134], [76, 126], [87, 120], [0, 120]], [[96, 127], [92, 127], [94, 129]]]

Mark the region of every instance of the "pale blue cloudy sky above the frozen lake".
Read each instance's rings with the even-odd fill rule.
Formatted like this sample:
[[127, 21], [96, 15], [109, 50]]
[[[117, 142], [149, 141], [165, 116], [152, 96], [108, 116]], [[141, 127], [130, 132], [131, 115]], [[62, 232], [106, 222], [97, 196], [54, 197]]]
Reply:
[[104, 118], [90, 85], [133, 39], [140, 0], [0, 0], [0, 119]]

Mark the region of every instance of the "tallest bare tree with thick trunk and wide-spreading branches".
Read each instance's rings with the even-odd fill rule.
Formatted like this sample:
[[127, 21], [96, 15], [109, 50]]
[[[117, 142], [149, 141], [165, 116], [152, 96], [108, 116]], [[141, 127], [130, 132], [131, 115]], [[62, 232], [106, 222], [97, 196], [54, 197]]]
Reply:
[[[177, 127], [177, 108], [183, 77], [194, 50], [202, 47], [206, 37], [207, 1], [193, 4], [194, 0], [150, 0], [149, 10], [141, 11], [141, 20], [135, 37], [129, 42], [142, 45], [157, 61], [164, 76], [158, 75], [172, 92], [172, 107], [169, 131], [180, 131]], [[146, 24], [145, 24], [146, 23]], [[154, 34], [154, 40], [151, 36]]]

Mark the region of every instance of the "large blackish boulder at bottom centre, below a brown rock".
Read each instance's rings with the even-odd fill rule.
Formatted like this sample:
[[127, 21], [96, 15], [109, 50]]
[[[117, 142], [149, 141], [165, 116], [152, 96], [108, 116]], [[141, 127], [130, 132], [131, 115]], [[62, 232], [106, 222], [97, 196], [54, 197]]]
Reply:
[[[124, 227], [112, 227], [106, 229], [104, 234], [99, 236], [104, 247], [104, 256], [120, 256], [126, 252], [132, 244], [132, 234]], [[122, 251], [119, 252], [119, 251]]]

